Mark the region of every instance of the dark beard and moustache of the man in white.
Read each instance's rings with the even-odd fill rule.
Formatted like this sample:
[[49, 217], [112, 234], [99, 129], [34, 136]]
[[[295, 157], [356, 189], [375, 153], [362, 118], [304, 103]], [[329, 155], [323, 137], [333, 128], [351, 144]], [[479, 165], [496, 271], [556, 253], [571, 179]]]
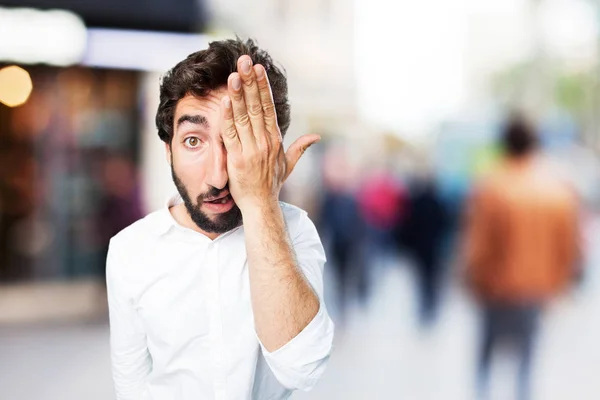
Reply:
[[242, 211], [237, 204], [234, 204], [231, 210], [215, 216], [214, 219], [211, 219], [201, 210], [205, 198], [219, 197], [221, 193], [227, 190], [227, 186], [223, 189], [217, 189], [211, 186], [207, 192], [198, 195], [196, 204], [194, 204], [192, 203], [187, 188], [175, 173], [173, 164], [171, 164], [171, 176], [173, 177], [173, 183], [175, 183], [175, 187], [183, 200], [183, 204], [185, 205], [188, 214], [198, 228], [208, 233], [225, 233], [242, 224]]

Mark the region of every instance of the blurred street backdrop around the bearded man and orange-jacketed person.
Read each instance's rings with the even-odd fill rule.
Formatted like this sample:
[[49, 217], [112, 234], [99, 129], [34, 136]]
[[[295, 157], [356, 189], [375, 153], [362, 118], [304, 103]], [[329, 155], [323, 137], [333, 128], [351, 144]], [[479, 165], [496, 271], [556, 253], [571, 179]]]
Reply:
[[[462, 239], [512, 110], [576, 194], [582, 249], [543, 302], [532, 398], [600, 398], [599, 27], [597, 0], [0, 0], [0, 398], [114, 398], [108, 240], [173, 190], [159, 78], [236, 34], [287, 71], [286, 143], [323, 136], [282, 197], [326, 245], [337, 337], [292, 398], [476, 398]], [[518, 355], [496, 351], [490, 398], [516, 398]]]

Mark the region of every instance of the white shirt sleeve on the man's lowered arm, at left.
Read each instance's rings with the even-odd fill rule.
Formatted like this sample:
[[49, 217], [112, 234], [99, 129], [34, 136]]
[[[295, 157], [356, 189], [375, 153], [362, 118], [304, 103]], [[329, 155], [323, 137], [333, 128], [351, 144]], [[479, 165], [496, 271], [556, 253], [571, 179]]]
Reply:
[[127, 296], [122, 275], [124, 260], [111, 240], [106, 261], [106, 287], [110, 316], [112, 375], [117, 400], [146, 399], [146, 378], [152, 359], [139, 315]]

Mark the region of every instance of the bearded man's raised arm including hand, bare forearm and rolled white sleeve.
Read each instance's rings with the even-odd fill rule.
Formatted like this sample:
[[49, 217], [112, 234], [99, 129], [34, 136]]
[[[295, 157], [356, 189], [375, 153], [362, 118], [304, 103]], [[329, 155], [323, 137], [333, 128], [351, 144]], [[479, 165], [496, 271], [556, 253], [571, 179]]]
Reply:
[[229, 76], [229, 95], [221, 101], [221, 137], [229, 190], [244, 221], [257, 336], [279, 382], [309, 390], [333, 339], [321, 298], [325, 256], [312, 222], [299, 224], [292, 243], [278, 200], [283, 182], [320, 137], [302, 136], [284, 152], [265, 69], [242, 56], [238, 71]]

